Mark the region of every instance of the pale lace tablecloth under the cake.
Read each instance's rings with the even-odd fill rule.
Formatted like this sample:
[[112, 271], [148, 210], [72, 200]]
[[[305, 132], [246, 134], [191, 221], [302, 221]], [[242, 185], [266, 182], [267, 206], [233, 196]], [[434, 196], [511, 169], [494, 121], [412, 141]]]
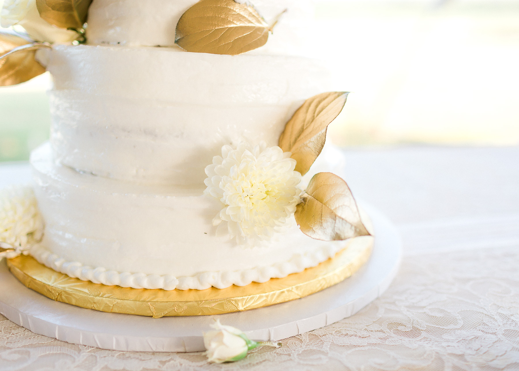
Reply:
[[[0, 371], [519, 369], [519, 148], [346, 154], [353, 193], [404, 240], [397, 278], [358, 314], [221, 365], [72, 345], [0, 316]], [[0, 186], [24, 166], [0, 166]]]

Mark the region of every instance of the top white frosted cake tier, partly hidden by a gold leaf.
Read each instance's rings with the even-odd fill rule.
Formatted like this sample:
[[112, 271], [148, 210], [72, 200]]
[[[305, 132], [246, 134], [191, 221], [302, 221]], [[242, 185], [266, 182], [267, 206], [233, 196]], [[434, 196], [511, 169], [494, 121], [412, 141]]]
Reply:
[[[198, 0], [93, 0], [88, 11], [89, 44], [173, 46], [176, 23]], [[240, 1], [243, 2], [243, 1]], [[313, 9], [309, 0], [254, 0], [272, 22], [286, 12], [268, 42], [250, 54], [305, 55]]]

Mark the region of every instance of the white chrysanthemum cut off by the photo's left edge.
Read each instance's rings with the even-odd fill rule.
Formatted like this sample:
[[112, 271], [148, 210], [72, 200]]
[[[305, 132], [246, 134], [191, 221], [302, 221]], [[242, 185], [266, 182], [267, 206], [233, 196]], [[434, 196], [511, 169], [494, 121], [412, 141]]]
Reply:
[[42, 239], [43, 228], [32, 188], [8, 187], [0, 191], [0, 242], [21, 252]]

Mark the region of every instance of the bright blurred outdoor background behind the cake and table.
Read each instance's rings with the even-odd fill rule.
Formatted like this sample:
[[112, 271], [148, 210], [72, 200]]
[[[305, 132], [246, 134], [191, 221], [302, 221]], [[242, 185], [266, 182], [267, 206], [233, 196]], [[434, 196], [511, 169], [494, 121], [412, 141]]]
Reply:
[[[340, 146], [519, 144], [519, 0], [321, 0], [312, 47], [351, 91]], [[48, 74], [0, 88], [0, 161], [47, 140]]]

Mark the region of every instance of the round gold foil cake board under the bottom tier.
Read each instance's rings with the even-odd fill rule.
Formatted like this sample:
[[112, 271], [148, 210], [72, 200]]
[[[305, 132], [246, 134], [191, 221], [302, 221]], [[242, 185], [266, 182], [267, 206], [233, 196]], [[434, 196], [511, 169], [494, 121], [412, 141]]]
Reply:
[[317, 293], [356, 272], [371, 255], [373, 237], [346, 241], [344, 249], [318, 266], [282, 279], [206, 290], [135, 289], [81, 281], [40, 264], [31, 256], [7, 259], [13, 275], [46, 297], [109, 313], [152, 316], [212, 315], [261, 308]]

